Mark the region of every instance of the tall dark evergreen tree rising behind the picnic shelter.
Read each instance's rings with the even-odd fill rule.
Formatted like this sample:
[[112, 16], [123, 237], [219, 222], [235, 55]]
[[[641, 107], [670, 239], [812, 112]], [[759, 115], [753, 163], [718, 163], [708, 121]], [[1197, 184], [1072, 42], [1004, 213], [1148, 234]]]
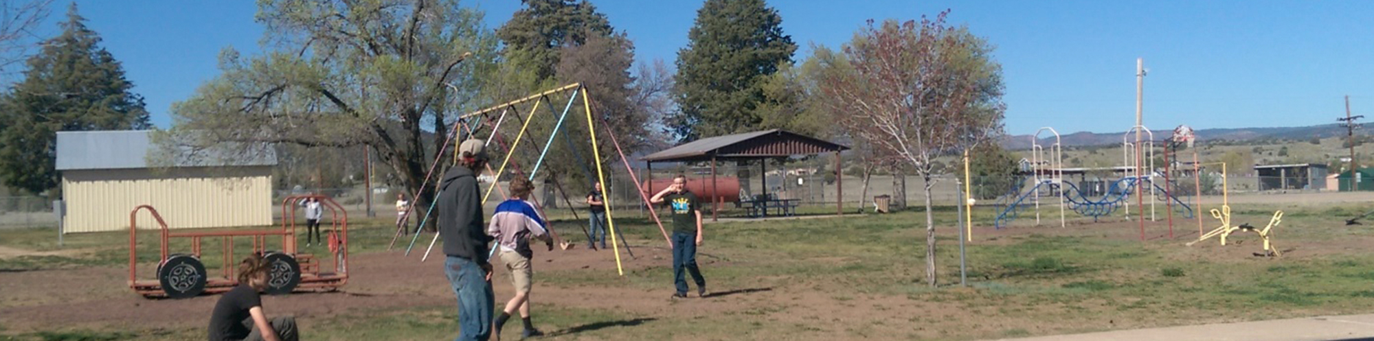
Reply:
[[669, 125], [683, 142], [758, 129], [767, 77], [797, 44], [764, 0], [706, 0], [677, 52], [680, 113]]

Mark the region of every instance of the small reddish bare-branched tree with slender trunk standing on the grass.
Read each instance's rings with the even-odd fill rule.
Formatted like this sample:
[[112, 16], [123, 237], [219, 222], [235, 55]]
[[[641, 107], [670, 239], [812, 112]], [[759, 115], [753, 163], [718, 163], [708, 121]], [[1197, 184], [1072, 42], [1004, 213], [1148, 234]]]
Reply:
[[932, 216], [934, 158], [1002, 132], [1002, 70], [992, 47], [941, 12], [919, 22], [868, 22], [829, 58], [822, 91], [835, 122], [872, 146], [879, 161], [901, 161], [925, 180], [926, 282], [936, 285]]

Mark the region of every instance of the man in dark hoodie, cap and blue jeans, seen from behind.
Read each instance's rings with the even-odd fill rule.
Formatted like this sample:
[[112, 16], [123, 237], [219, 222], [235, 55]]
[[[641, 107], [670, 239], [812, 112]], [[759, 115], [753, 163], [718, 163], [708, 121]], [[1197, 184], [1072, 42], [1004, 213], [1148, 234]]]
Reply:
[[482, 224], [482, 199], [477, 172], [486, 166], [486, 147], [481, 140], [464, 140], [458, 147], [458, 166], [444, 173], [436, 205], [438, 234], [444, 236], [444, 274], [458, 297], [456, 340], [488, 340], [492, 336], [492, 264], [488, 263], [486, 235]]

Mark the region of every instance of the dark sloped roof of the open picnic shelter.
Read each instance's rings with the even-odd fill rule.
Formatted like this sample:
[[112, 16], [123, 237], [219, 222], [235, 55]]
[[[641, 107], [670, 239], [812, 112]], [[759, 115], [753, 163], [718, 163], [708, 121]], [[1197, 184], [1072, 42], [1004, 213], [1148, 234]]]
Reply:
[[699, 139], [644, 155], [639, 160], [708, 161], [712, 157], [719, 160], [765, 158], [819, 154], [848, 148], [849, 147], [794, 132], [768, 129]]

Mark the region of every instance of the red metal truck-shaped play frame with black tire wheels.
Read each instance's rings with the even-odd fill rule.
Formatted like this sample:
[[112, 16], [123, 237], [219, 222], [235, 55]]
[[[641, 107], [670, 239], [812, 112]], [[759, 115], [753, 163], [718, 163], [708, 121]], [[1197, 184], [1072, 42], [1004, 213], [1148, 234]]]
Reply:
[[[330, 258], [333, 268], [322, 268], [322, 260], [309, 253], [298, 253], [295, 248], [295, 210], [304, 199], [319, 199], [322, 208], [327, 208], [331, 220], [327, 230]], [[157, 268], [157, 279], [137, 279], [137, 214], [139, 210], [148, 210], [153, 219], [162, 228], [161, 249], [162, 257]], [[216, 231], [216, 232], [172, 232], [158, 210], [148, 205], [140, 205], [129, 212], [129, 287], [144, 297], [185, 298], [201, 293], [223, 293], [238, 286], [234, 274], [235, 265], [240, 260], [234, 256], [234, 239], [247, 236], [253, 239], [253, 252], [262, 254], [268, 263], [269, 276], [267, 283], [268, 294], [287, 294], [298, 290], [334, 290], [348, 283], [348, 212], [334, 199], [324, 195], [293, 195], [282, 199], [282, 228], [256, 231]], [[268, 236], [282, 236], [278, 249], [268, 249]], [[170, 253], [168, 242], [172, 238], [190, 238], [191, 253]], [[223, 274], [210, 276], [201, 263], [201, 242], [205, 238], [220, 238], [220, 252], [224, 265]], [[275, 239], [275, 238], [272, 238]], [[242, 256], [240, 256], [242, 257]]]

